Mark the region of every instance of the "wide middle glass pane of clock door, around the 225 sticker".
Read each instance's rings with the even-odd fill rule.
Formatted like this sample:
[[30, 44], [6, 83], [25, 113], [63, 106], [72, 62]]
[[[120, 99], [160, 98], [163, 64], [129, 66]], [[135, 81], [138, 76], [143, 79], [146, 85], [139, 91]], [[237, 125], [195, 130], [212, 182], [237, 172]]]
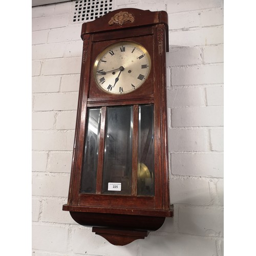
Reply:
[[[132, 106], [109, 107], [106, 111], [106, 133], [102, 194], [131, 194], [132, 177]], [[121, 183], [121, 191], [108, 187], [111, 182]]]

